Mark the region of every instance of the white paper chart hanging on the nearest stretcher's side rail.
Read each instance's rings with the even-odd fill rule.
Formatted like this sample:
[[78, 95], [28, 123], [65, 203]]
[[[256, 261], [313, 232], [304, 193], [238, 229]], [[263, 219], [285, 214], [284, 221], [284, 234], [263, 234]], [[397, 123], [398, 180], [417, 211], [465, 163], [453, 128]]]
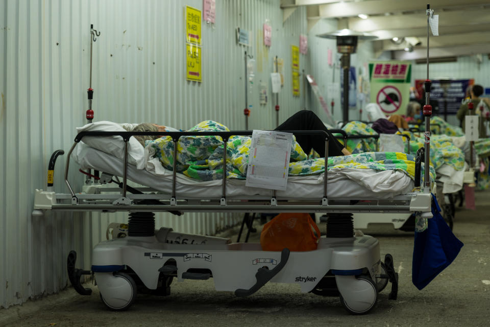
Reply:
[[254, 130], [246, 186], [286, 191], [292, 134]]

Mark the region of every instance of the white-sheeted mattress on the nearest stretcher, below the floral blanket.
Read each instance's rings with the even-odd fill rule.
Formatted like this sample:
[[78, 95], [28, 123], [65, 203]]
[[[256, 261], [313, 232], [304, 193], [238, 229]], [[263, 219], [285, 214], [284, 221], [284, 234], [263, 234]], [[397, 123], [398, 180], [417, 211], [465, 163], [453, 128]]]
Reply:
[[[71, 154], [82, 169], [95, 169], [101, 172], [122, 176], [122, 160], [91, 148], [80, 142]], [[128, 165], [128, 179], [155, 190], [171, 194], [172, 172], [166, 171], [153, 161], [146, 167], [159, 166], [157, 172], [138, 170]], [[153, 164], [153, 165], [152, 165]], [[154, 167], [155, 168], [155, 167]], [[278, 199], [321, 199], [323, 197], [324, 174], [313, 176], [289, 176], [286, 191], [277, 191]], [[374, 171], [360, 169], [341, 169], [329, 171], [327, 195], [336, 199], [389, 199], [397, 195], [407, 194], [413, 189], [413, 181], [401, 171]], [[183, 174], [177, 174], [176, 196], [186, 199], [216, 199], [222, 195], [222, 180], [199, 181]], [[227, 179], [227, 198], [251, 198], [264, 196], [270, 198], [272, 190], [250, 188], [244, 180]]]

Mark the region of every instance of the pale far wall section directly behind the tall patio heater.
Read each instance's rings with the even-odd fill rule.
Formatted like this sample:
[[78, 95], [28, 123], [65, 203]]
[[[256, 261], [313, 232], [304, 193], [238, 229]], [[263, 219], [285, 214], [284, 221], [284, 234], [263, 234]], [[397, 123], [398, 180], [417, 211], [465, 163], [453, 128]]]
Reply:
[[[329, 109], [332, 99], [335, 102], [333, 116], [337, 121], [342, 120], [342, 108], [340, 104], [340, 92], [337, 94], [329, 94], [328, 85], [336, 83], [340, 85], [340, 55], [337, 54], [335, 39], [325, 39], [316, 37], [317, 34], [333, 32], [337, 30], [336, 19], [320, 19], [309, 31], [308, 42], [310, 45], [310, 74], [313, 75], [318, 87], [322, 92], [322, 96], [326, 99]], [[328, 50], [332, 51], [333, 65], [328, 65]], [[359, 77], [359, 72], [363, 71], [365, 63], [374, 58], [373, 45], [371, 42], [359, 42], [357, 51], [351, 55], [351, 66], [356, 67], [356, 74]], [[366, 74], [367, 76], [367, 74]], [[358, 85], [359, 86], [359, 85]], [[359, 89], [359, 88], [358, 88]], [[367, 103], [367, 102], [366, 102]], [[358, 102], [359, 105], [359, 102]], [[327, 121], [327, 114], [320, 106], [316, 98], [311, 99], [311, 110], [313, 110], [320, 118]], [[358, 119], [358, 111], [354, 108], [349, 110], [349, 119]]]

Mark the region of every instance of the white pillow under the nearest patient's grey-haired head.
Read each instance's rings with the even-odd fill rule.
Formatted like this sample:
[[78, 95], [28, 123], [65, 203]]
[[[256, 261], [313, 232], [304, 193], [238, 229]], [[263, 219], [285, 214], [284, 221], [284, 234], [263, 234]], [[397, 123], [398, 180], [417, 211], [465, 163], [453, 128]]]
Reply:
[[[77, 128], [77, 132], [126, 132], [121, 125], [102, 121], [84, 125]], [[121, 136], [84, 136], [82, 141], [88, 146], [124, 160], [124, 141]], [[144, 148], [134, 137], [128, 141], [128, 162], [137, 169], [144, 169]]]

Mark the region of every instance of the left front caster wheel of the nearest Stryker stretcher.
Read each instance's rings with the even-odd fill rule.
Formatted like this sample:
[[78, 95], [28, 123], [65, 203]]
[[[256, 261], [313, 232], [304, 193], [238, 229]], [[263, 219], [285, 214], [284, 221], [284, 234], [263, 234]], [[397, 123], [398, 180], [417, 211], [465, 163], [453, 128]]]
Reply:
[[104, 292], [101, 290], [100, 294], [107, 308], [124, 311], [131, 307], [136, 298], [136, 283], [130, 275], [117, 272], [104, 282], [108, 285], [104, 286]]

